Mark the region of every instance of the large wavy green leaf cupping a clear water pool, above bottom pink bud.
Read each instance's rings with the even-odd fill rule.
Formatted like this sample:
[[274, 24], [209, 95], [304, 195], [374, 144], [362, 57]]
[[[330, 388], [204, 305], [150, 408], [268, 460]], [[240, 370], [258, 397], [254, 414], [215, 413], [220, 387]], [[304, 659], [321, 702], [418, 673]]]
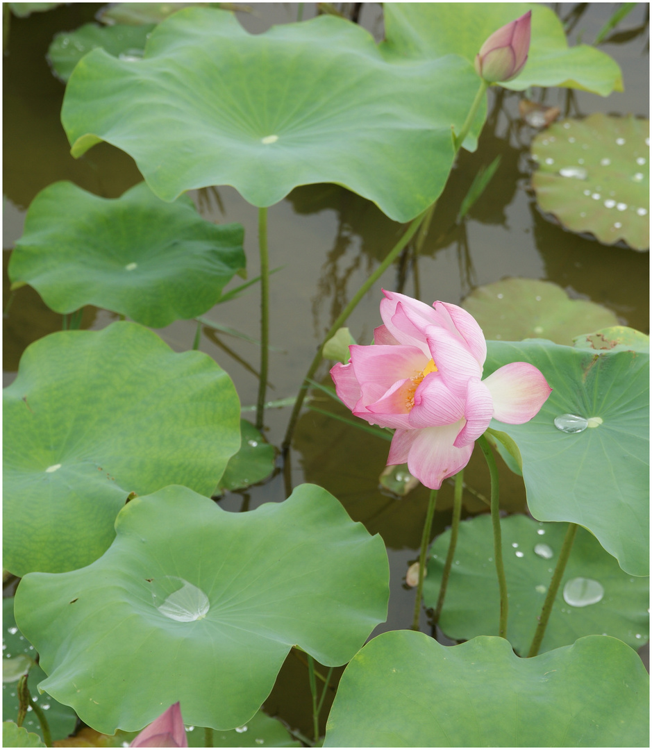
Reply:
[[15, 613], [49, 675], [39, 687], [98, 731], [139, 730], [176, 700], [184, 721], [226, 730], [294, 644], [349, 661], [386, 617], [388, 579], [383, 540], [321, 487], [230, 513], [170, 486], [125, 505], [92, 565], [24, 577]]

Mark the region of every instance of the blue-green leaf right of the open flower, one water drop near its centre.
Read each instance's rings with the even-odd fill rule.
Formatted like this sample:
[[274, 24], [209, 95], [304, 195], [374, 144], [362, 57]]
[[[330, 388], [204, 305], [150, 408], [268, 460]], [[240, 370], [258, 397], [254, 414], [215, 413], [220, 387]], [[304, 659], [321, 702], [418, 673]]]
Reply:
[[531, 514], [579, 523], [624, 571], [647, 575], [649, 355], [488, 341], [485, 377], [508, 362], [531, 362], [552, 389], [530, 422], [491, 422], [521, 452]]

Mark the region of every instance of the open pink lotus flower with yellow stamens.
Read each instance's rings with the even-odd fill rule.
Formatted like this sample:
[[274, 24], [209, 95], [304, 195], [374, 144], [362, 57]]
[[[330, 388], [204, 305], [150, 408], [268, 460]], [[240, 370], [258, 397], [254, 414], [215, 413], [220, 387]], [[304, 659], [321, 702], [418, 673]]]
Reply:
[[467, 311], [432, 307], [383, 290], [384, 326], [375, 344], [349, 347], [351, 359], [331, 370], [339, 398], [371, 425], [395, 428], [387, 463], [406, 463], [438, 490], [467, 465], [473, 443], [491, 419], [528, 422], [551, 393], [527, 362], [504, 365], [482, 380], [487, 345]]

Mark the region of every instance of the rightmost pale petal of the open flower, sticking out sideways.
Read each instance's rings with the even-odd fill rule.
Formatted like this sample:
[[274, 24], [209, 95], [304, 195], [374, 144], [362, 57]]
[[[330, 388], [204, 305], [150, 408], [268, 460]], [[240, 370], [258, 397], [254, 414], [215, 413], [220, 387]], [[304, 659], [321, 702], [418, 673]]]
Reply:
[[494, 419], [508, 425], [528, 422], [552, 392], [545, 377], [527, 362], [504, 365], [482, 383], [494, 400]]

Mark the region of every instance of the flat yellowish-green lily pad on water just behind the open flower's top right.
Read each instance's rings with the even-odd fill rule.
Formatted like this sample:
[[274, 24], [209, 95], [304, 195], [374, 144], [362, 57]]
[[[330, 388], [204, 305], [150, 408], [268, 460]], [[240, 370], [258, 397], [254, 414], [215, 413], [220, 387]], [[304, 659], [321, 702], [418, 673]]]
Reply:
[[551, 281], [503, 279], [473, 290], [464, 310], [478, 321], [485, 338], [521, 341], [547, 338], [556, 344], [572, 346], [573, 338], [584, 331], [617, 326], [611, 311], [584, 299], [569, 299]]

